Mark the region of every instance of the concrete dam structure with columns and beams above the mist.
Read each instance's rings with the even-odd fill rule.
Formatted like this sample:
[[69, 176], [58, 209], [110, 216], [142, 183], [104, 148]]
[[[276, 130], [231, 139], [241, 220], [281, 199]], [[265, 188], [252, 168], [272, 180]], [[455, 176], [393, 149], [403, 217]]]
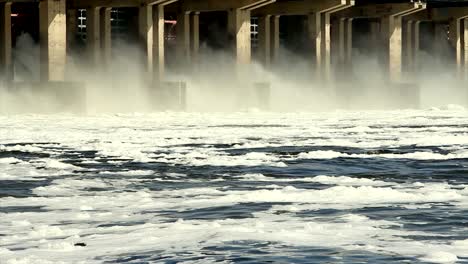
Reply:
[[[14, 50], [24, 33], [39, 45], [35, 80], [16, 76]], [[253, 104], [265, 108], [272, 81], [252, 78], [251, 65], [278, 71], [284, 47], [301, 54], [306, 62], [301, 71], [310, 83], [336, 93], [356, 85], [350, 81], [356, 79], [356, 49], [377, 58], [381, 82], [397, 91], [404, 106], [418, 105], [413, 77], [424, 63], [422, 50], [447, 58], [458, 83], [468, 87], [468, 1], [463, 0], [2, 0], [2, 86], [52, 89], [74, 100], [87, 80], [69, 78], [70, 56], [90, 71], [105, 71], [119, 36], [138, 47], [140, 77], [151, 96], [177, 109], [185, 107], [191, 89], [187, 78], [196, 78], [209, 56], [202, 43], [232, 59], [222, 66], [230, 81], [253, 91], [249, 96], [258, 97]], [[438, 54], [434, 43], [447, 52]], [[168, 72], [177, 75], [168, 78]]]

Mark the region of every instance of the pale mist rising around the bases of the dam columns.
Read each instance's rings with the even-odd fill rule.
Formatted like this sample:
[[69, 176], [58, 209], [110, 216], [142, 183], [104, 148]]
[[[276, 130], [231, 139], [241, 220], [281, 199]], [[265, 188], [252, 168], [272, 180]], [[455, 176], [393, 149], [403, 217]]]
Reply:
[[[352, 65], [334, 69], [332, 81], [316, 78], [313, 58], [282, 45], [274, 66], [253, 60], [236, 70], [226, 50], [201, 43], [197, 64], [169, 67], [165, 81], [186, 83], [185, 111], [330, 111], [466, 106], [466, 82], [456, 77], [451, 47], [438, 40], [432, 53], [421, 50], [414, 74], [404, 75], [405, 90], [386, 81], [379, 54], [354, 48]], [[68, 54], [66, 80], [81, 87], [82, 96], [50, 94], [39, 89], [39, 46], [23, 34], [14, 48], [15, 82], [1, 87], [2, 113], [80, 112], [125, 113], [164, 111], [148, 82], [138, 45], [115, 40], [109, 65], [91, 66], [81, 50]], [[174, 59], [174, 58], [167, 58]], [[177, 65], [177, 63], [176, 63]], [[336, 64], [334, 65], [336, 66]], [[344, 77], [345, 76], [345, 77]], [[270, 89], [256, 87], [270, 86]], [[5, 85], [3, 85], [5, 86]], [[416, 88], [415, 88], [416, 87]], [[67, 94], [67, 91], [63, 92]], [[419, 97], [419, 99], [417, 99]], [[70, 100], [79, 107], [68, 108]], [[79, 100], [80, 102], [78, 102]], [[409, 101], [414, 101], [413, 103]], [[416, 102], [419, 101], [419, 102]], [[416, 102], [416, 103], [415, 103]], [[169, 110], [172, 108], [169, 107]]]

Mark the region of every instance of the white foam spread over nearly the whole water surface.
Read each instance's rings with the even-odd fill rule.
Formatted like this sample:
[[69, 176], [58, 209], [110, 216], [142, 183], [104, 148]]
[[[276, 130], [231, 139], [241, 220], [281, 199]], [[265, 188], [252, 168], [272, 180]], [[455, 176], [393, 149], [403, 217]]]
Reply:
[[[453, 210], [468, 208], [467, 187], [454, 183], [396, 183], [346, 175], [274, 178], [256, 173], [226, 176], [244, 185], [263, 183], [252, 184], [250, 189], [230, 189], [207, 180], [206, 185], [200, 185], [203, 187], [149, 190], [141, 178], [154, 180], [155, 184], [161, 181], [160, 172], [153, 168], [114, 171], [126, 162], [287, 169], [289, 162], [298, 159], [465, 159], [468, 117], [457, 107], [440, 111], [22, 115], [0, 119], [4, 125], [0, 128], [0, 142], [11, 144], [0, 145], [0, 152], [50, 155], [0, 159], [0, 180], [50, 181], [45, 186], [31, 187], [30, 196], [0, 198], [2, 208], [24, 207], [0, 213], [4, 234], [0, 237], [0, 260], [5, 263], [99, 263], [120, 255], [157, 250], [167, 255], [200, 252], [206, 246], [241, 240], [364, 250], [437, 263], [468, 257], [466, 240], [440, 241], [437, 237], [444, 234], [405, 229], [408, 222], [398, 218], [302, 214], [372, 207], [430, 210], [440, 204], [450, 205]], [[326, 150], [327, 146], [379, 149], [411, 145], [439, 146], [448, 154], [348, 154]], [[284, 146], [320, 146], [324, 150], [288, 155], [256, 149]], [[61, 157], [67, 149], [97, 154], [77, 158], [72, 164]], [[102, 160], [107, 160], [106, 166], [112, 166], [112, 170], [85, 169], [99, 166]], [[185, 173], [164, 175], [169, 178], [164, 181], [193, 183], [187, 179], [190, 172]], [[315, 183], [321, 184], [319, 189], [306, 188], [318, 186]], [[171, 218], [197, 209], [263, 203], [273, 205], [264, 211], [253, 210], [253, 216], [245, 219]], [[417, 241], [412, 236], [434, 239]], [[81, 242], [87, 246], [74, 246]], [[99, 257], [102, 259], [96, 260]]]

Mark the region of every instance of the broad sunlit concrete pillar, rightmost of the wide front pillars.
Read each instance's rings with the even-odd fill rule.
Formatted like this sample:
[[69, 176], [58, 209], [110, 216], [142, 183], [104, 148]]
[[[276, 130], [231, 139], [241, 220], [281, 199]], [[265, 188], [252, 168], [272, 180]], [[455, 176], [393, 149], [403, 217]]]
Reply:
[[387, 16], [382, 19], [382, 34], [387, 46], [385, 63], [391, 81], [401, 81], [402, 74], [402, 17]]

